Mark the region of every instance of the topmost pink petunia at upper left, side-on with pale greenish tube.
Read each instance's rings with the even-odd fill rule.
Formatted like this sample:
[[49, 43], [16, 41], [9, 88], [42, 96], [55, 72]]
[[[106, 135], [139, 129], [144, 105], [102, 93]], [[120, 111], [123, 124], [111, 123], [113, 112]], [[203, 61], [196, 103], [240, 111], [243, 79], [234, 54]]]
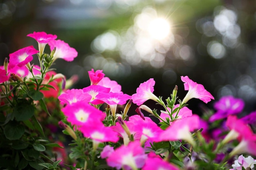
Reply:
[[38, 49], [41, 56], [45, 49], [45, 45], [51, 40], [55, 40], [57, 38], [57, 35], [47, 34], [45, 32], [34, 32], [28, 34], [27, 37], [34, 38], [38, 42]]

